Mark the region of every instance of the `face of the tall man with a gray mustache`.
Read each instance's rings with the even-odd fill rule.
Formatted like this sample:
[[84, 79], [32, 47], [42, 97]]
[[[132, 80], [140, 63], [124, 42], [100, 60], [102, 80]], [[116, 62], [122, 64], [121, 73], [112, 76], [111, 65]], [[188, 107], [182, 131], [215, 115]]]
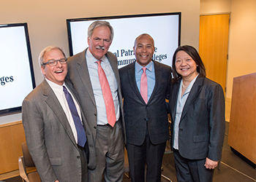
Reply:
[[100, 60], [108, 52], [112, 42], [110, 35], [108, 26], [100, 26], [94, 29], [90, 38], [87, 38], [89, 50], [97, 60]]

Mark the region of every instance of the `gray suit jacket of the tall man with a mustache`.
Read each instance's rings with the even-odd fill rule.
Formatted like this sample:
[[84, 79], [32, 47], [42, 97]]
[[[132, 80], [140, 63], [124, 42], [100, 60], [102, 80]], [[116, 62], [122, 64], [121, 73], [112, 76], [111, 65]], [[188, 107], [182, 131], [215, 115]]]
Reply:
[[[86, 49], [87, 50], [87, 49]], [[94, 92], [91, 86], [91, 79], [86, 63], [86, 50], [68, 58], [68, 73], [66, 79], [72, 82], [75, 90], [78, 92], [81, 107], [86, 117], [86, 127], [89, 127], [92, 132], [93, 142], [89, 143], [89, 169], [93, 170], [96, 167], [95, 155], [95, 141], [97, 129], [97, 106], [94, 99]], [[118, 84], [118, 99], [120, 103], [121, 118], [119, 119], [118, 126], [121, 128], [124, 143], [126, 143], [125, 129], [124, 129], [124, 112], [122, 108], [121, 84], [117, 68], [116, 56], [111, 52], [106, 54], [113, 72], [116, 76]]]

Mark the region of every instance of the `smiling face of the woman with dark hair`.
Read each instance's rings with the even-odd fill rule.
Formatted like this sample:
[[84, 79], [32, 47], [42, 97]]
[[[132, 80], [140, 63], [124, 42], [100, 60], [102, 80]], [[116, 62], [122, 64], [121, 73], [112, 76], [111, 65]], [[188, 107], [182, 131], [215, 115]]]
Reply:
[[197, 64], [187, 52], [180, 50], [176, 54], [175, 62], [176, 71], [182, 76], [183, 79], [189, 79], [190, 81], [197, 76]]

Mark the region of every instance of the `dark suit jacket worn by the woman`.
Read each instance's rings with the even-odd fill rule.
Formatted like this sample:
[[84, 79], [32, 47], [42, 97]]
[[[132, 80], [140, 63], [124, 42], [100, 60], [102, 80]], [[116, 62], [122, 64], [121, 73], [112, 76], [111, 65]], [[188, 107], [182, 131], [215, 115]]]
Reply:
[[[181, 79], [170, 93], [172, 133]], [[197, 77], [184, 105], [178, 131], [178, 151], [187, 159], [219, 161], [225, 135], [225, 99], [222, 87], [205, 77]], [[173, 147], [173, 135], [171, 146]]]

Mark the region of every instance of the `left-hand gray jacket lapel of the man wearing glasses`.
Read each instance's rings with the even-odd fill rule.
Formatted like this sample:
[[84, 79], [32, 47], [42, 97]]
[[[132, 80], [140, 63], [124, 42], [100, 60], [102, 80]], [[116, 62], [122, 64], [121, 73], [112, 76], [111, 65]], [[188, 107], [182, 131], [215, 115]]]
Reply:
[[54, 94], [53, 90], [51, 90], [50, 85], [47, 83], [46, 80], [43, 81], [43, 84], [45, 87], [42, 92], [43, 95], [46, 97], [45, 103], [47, 103], [48, 106], [53, 110], [53, 113], [59, 119], [59, 122], [61, 122], [61, 125], [64, 127], [64, 130], [66, 130], [70, 140], [75, 144], [75, 146], [77, 146], [72, 129], [69, 125], [69, 122], [67, 121], [67, 116], [64, 113], [58, 98], [56, 98], [56, 95]]

